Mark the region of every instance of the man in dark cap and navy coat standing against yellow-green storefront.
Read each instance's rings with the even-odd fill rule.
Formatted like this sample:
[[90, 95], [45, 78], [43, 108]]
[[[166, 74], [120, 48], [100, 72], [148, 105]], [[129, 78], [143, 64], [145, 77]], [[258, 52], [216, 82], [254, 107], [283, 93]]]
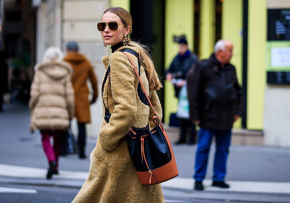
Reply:
[[[180, 36], [176, 42], [178, 42], [179, 53], [173, 59], [167, 74], [166, 79], [174, 84], [175, 97], [179, 97], [179, 92], [186, 84], [186, 75], [190, 68], [196, 64], [199, 59], [191, 53], [188, 49], [187, 40], [185, 36]], [[187, 128], [190, 129], [190, 140], [188, 144], [195, 144], [196, 142], [196, 125], [192, 123], [189, 118], [180, 118], [180, 137], [175, 144], [183, 144], [186, 142]]]

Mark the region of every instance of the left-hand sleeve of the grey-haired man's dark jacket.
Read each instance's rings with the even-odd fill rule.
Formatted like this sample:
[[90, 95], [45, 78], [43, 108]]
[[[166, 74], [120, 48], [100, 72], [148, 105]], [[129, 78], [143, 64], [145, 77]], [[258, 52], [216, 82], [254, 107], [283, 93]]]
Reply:
[[187, 97], [189, 101], [190, 120], [199, 120], [199, 101], [204, 86], [204, 67], [197, 63], [187, 76]]

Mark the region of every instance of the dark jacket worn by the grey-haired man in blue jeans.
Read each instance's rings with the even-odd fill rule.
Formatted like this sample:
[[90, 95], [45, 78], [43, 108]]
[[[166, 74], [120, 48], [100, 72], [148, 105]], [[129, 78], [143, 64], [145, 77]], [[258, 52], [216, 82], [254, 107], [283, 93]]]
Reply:
[[190, 119], [206, 129], [231, 129], [235, 114], [242, 115], [242, 88], [231, 64], [221, 67], [212, 54], [197, 63], [187, 80]]

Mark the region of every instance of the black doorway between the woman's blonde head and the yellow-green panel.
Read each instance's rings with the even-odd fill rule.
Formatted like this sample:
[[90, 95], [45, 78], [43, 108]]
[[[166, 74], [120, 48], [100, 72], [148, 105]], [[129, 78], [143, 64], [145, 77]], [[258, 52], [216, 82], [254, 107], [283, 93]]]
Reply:
[[[131, 39], [150, 48], [155, 69], [164, 75], [165, 0], [130, 1], [133, 19]], [[164, 84], [164, 79], [161, 79]], [[164, 88], [157, 91], [164, 110]]]

